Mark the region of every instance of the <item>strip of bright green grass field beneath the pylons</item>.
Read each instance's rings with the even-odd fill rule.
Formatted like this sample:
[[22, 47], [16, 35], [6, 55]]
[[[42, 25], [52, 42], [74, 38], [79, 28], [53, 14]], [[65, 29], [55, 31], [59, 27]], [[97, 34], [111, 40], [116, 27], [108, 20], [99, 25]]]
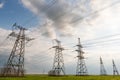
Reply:
[[27, 75], [24, 78], [7, 77], [0, 80], [120, 80], [120, 76], [61, 76], [50, 77], [46, 75]]

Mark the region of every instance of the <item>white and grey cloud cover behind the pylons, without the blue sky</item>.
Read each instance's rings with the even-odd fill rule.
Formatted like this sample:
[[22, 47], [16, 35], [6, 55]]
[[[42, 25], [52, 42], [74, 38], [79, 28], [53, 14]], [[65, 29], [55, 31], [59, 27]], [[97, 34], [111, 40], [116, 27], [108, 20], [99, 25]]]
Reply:
[[[107, 6], [112, 3], [113, 0], [92, 0], [93, 2], [86, 3], [86, 6], [79, 6], [79, 1], [84, 3], [84, 1], [89, 0], [78, 0], [77, 4], [66, 2], [66, 0], [58, 0], [53, 6], [50, 7], [52, 3], [45, 2], [46, 0], [22, 0], [22, 3], [29, 10], [34, 12], [38, 17], [40, 17], [40, 26], [31, 28], [27, 32], [27, 36], [34, 37], [35, 40], [26, 44], [25, 52], [25, 69], [27, 73], [42, 73], [45, 70], [47, 73], [52, 68], [52, 62], [54, 57], [54, 50], [48, 50], [52, 44], [51, 39], [48, 37], [56, 38], [56, 35], [60, 36], [71, 36], [71, 37], [60, 37], [59, 39], [62, 42], [63, 47], [66, 49], [74, 50], [73, 46], [77, 44], [77, 38], [80, 37], [82, 44], [86, 43], [91, 39], [102, 37], [106, 35], [111, 35], [119, 33], [120, 30], [120, 15], [119, 6], [116, 5], [112, 8], [108, 8], [97, 15], [97, 19], [90, 21], [91, 25], [88, 25], [85, 20], [82, 20], [81, 24], [69, 24], [72, 21], [77, 20], [81, 16], [88, 15], [90, 11], [96, 11], [100, 9], [101, 5]], [[72, 0], [71, 0], [72, 1]], [[73, 0], [77, 1], [77, 0]], [[91, 1], [91, 0], [90, 0]], [[73, 8], [71, 4], [77, 5], [76, 8]], [[93, 5], [92, 5], [93, 4]], [[89, 7], [90, 6], [90, 7]], [[50, 7], [50, 8], [49, 8]], [[87, 8], [89, 7], [89, 8]], [[103, 6], [102, 6], [103, 7]], [[47, 11], [45, 11], [49, 8]], [[57, 9], [57, 10], [56, 10]], [[79, 11], [80, 10], [80, 11]], [[90, 11], [89, 11], [90, 10]], [[81, 13], [81, 11], [83, 13]], [[63, 15], [64, 14], [64, 15]], [[81, 15], [81, 16], [80, 16]], [[55, 19], [57, 18], [57, 19]], [[55, 19], [55, 20], [54, 20]], [[38, 28], [39, 27], [39, 28]], [[5, 30], [0, 28], [0, 43], [3, 43], [4, 39], [11, 32], [10, 30]], [[47, 37], [44, 37], [44, 36]], [[85, 41], [86, 40], [86, 41]], [[9, 42], [10, 41], [10, 42]], [[15, 40], [7, 40], [1, 47], [0, 54], [10, 54], [10, 51], [13, 47]], [[84, 42], [83, 42], [84, 41]], [[92, 40], [94, 43], [95, 41]], [[118, 41], [119, 42], [119, 41]], [[12, 44], [11, 44], [12, 43]], [[114, 43], [113, 43], [114, 44]], [[99, 74], [99, 57], [102, 56], [105, 64], [105, 68], [108, 68], [109, 73], [112, 73], [111, 67], [112, 64], [108, 63], [112, 58], [115, 59], [116, 63], [119, 63], [119, 45], [110, 44], [103, 45], [91, 45], [92, 47], [85, 48], [86, 65], [88, 68], [89, 74]], [[86, 44], [87, 45], [87, 44]], [[84, 46], [84, 45], [83, 45]], [[7, 52], [6, 52], [7, 51]], [[66, 73], [75, 74], [78, 54], [71, 51], [63, 51]], [[70, 55], [70, 56], [68, 56]], [[94, 66], [93, 66], [94, 65]], [[111, 67], [109, 67], [111, 66]], [[120, 66], [120, 65], [119, 65]], [[96, 69], [96, 70], [94, 70]], [[97, 71], [98, 70], [98, 71]]]

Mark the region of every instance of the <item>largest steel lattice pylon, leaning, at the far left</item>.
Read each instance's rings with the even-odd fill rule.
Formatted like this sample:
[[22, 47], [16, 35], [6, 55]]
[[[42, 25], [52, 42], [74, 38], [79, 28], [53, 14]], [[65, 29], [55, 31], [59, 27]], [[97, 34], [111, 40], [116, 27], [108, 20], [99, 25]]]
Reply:
[[16, 34], [14, 31], [9, 35], [16, 37], [16, 41], [12, 48], [11, 54], [5, 65], [2, 76], [24, 76], [24, 53], [25, 53], [25, 40], [30, 41], [32, 39], [25, 37], [25, 28], [13, 25], [15, 29], [19, 30], [19, 33]]

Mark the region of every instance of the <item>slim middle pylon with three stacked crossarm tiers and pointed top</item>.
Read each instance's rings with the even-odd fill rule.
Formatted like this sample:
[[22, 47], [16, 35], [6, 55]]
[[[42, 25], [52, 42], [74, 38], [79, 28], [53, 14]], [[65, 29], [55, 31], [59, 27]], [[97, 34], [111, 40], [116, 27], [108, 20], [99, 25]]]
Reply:
[[78, 45], [76, 45], [78, 49], [78, 62], [77, 62], [77, 69], [76, 69], [76, 76], [88, 75], [87, 67], [85, 64], [85, 58], [83, 56], [84, 52], [82, 51], [82, 45], [80, 43], [80, 38], [78, 38]]

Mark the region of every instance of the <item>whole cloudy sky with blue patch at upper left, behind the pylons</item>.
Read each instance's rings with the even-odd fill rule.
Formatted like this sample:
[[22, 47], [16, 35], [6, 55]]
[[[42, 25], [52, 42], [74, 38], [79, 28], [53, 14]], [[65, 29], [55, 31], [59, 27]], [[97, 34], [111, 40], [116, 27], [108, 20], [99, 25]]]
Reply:
[[0, 67], [10, 55], [15, 39], [6, 39], [12, 25], [27, 28], [35, 40], [26, 44], [27, 73], [47, 73], [52, 68], [59, 39], [67, 74], [75, 74], [78, 55], [74, 47], [80, 37], [89, 74], [99, 74], [99, 57], [108, 74], [112, 59], [120, 67], [119, 0], [0, 0]]

